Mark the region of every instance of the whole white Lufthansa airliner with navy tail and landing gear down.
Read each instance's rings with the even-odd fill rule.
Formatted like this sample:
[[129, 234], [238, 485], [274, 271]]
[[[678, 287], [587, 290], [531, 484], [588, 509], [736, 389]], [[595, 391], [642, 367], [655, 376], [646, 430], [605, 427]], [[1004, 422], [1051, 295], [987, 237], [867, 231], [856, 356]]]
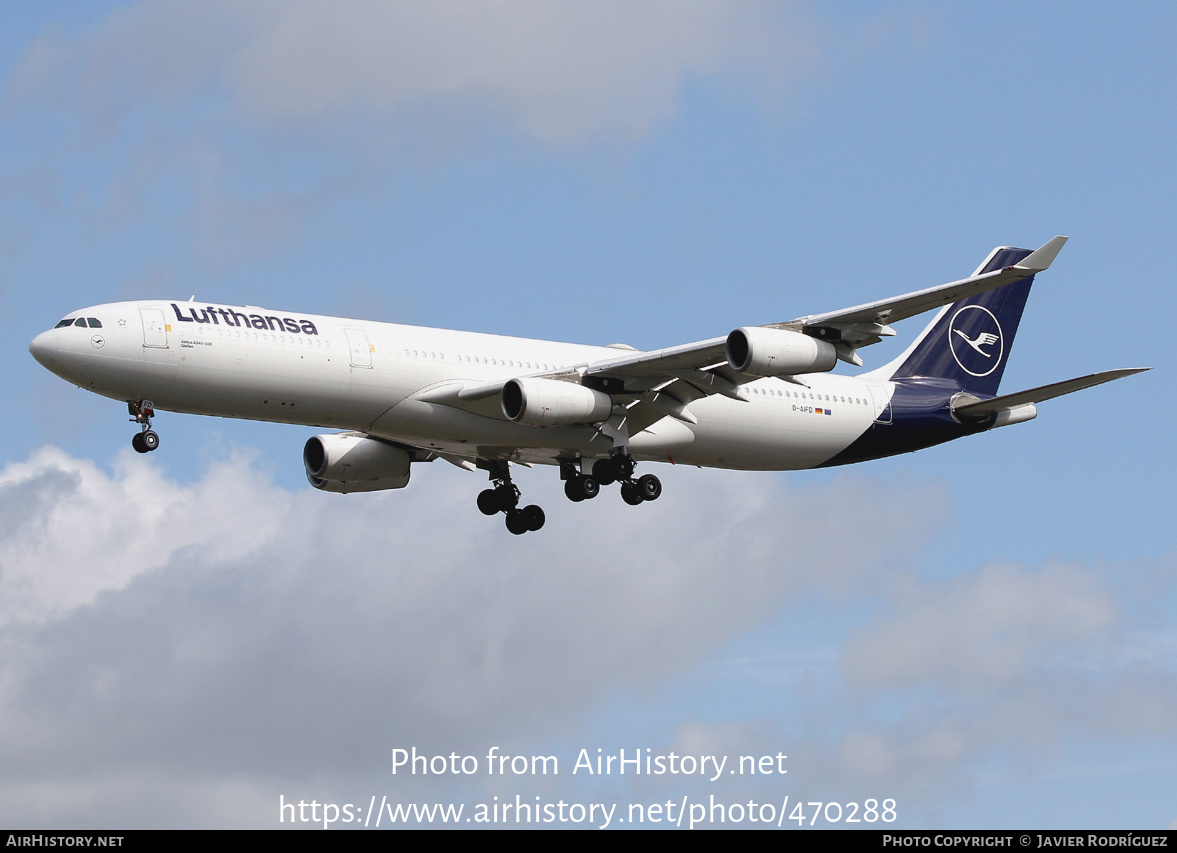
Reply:
[[[477, 505], [538, 531], [511, 464], [557, 466], [572, 501], [619, 485], [656, 500], [639, 462], [744, 471], [846, 465], [1028, 421], [1037, 404], [1149, 368], [998, 395], [1035, 274], [1065, 236], [995, 248], [969, 278], [843, 311], [639, 352], [187, 301], [71, 313], [29, 344], [53, 373], [127, 404], [132, 446], [159, 447], [157, 411], [338, 432], [302, 451], [311, 485], [404, 488], [414, 464], [486, 472]], [[939, 308], [897, 359], [858, 375], [890, 324]]]

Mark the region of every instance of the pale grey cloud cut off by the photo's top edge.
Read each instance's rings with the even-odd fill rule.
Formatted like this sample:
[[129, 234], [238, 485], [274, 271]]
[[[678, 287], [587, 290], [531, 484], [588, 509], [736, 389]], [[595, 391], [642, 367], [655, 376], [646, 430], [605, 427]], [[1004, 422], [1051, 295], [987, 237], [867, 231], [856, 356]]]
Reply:
[[813, 59], [802, 15], [770, 4], [350, 4], [285, 7], [242, 51], [242, 102], [278, 118], [425, 100], [497, 113], [539, 139], [641, 135], [690, 76]]

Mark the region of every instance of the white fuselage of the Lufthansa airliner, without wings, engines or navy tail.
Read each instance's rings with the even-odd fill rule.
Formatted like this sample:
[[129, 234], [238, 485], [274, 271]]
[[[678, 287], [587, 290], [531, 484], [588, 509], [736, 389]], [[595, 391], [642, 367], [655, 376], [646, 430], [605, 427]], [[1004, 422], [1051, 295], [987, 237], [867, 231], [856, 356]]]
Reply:
[[[526, 426], [498, 396], [463, 408], [421, 400], [446, 385], [503, 381], [617, 358], [610, 347], [199, 302], [114, 302], [31, 351], [60, 376], [157, 408], [354, 429], [441, 453], [554, 464], [607, 455], [591, 425]], [[91, 322], [93, 325], [93, 322]], [[885, 419], [891, 384], [832, 374], [743, 386], [746, 401], [689, 404], [630, 437], [638, 459], [744, 469], [822, 465]]]

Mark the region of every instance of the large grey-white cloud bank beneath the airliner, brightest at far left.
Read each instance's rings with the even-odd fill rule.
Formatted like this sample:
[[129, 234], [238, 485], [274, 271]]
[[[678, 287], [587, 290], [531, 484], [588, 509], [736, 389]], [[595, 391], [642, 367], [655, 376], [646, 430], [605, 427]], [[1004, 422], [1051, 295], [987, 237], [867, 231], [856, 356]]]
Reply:
[[571, 505], [551, 471], [525, 472], [548, 522], [516, 538], [473, 507], [480, 479], [440, 462], [405, 492], [339, 497], [275, 488], [246, 459], [192, 485], [152, 461], [107, 474], [47, 448], [0, 472], [8, 822], [157, 822], [137, 804], [158, 798], [128, 792], [167, 779], [215, 825], [240, 815], [211, 780], [384, 784], [392, 746], [557, 737], [787, 602], [853, 586], [873, 561], [831, 549], [882, 559], [885, 532], [903, 551], [940, 501], [669, 469], [656, 504]]

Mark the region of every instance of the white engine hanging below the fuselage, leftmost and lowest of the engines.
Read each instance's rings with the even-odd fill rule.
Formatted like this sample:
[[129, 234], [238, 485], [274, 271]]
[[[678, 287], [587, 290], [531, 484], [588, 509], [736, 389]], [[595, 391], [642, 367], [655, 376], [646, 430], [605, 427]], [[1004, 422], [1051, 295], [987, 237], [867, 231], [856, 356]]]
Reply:
[[379, 492], [408, 485], [407, 451], [363, 433], [313, 435], [302, 447], [306, 479], [322, 492]]

